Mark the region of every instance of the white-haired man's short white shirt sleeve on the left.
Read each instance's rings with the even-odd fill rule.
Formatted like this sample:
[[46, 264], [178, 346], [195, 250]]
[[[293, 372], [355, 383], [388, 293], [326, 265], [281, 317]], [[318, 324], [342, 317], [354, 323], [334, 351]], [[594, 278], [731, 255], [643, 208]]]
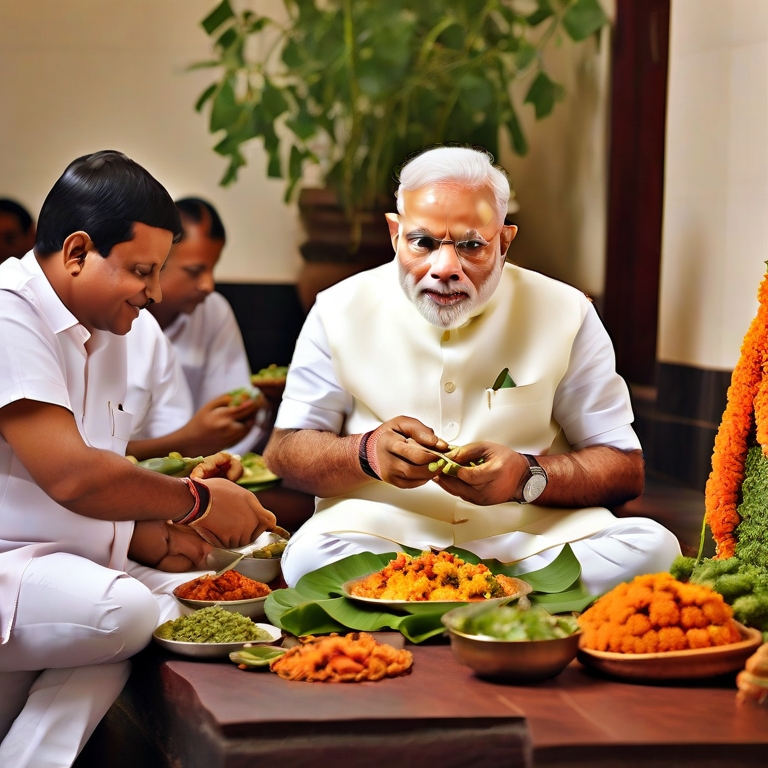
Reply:
[[351, 411], [352, 396], [336, 380], [328, 337], [313, 306], [296, 341], [275, 427], [339, 434]]

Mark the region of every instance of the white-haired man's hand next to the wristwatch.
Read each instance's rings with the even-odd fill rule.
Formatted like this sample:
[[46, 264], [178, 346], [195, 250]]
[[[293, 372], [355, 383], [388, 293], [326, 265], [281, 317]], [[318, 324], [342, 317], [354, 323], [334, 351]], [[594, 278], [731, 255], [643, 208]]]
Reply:
[[503, 504], [511, 501], [528, 462], [517, 451], [498, 443], [469, 443], [448, 453], [448, 457], [466, 466], [454, 477], [439, 473], [435, 476], [441, 488], [453, 496], [478, 506]]

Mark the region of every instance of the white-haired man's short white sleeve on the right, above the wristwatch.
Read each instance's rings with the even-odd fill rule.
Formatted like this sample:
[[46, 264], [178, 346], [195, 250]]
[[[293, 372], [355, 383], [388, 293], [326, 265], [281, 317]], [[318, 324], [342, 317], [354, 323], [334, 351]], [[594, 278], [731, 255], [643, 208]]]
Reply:
[[[585, 297], [585, 301], [588, 301]], [[616, 373], [613, 344], [595, 308], [590, 304], [571, 348], [553, 407], [555, 421], [575, 450], [608, 445], [637, 450], [629, 390]]]

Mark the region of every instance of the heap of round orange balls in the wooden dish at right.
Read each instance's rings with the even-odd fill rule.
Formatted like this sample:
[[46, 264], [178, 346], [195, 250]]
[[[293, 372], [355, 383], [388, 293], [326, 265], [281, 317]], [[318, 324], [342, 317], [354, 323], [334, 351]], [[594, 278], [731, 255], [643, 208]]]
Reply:
[[585, 611], [579, 624], [582, 646], [613, 653], [664, 653], [741, 640], [722, 595], [669, 573], [619, 584]]

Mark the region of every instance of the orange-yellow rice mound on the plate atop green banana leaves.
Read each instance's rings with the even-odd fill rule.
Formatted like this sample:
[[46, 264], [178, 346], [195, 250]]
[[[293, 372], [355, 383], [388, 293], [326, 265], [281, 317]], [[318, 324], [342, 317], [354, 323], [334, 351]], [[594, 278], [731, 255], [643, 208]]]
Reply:
[[487, 600], [526, 591], [519, 579], [494, 575], [478, 563], [466, 563], [450, 552], [422, 552], [411, 557], [403, 552], [382, 570], [350, 587], [356, 597], [379, 600]]

